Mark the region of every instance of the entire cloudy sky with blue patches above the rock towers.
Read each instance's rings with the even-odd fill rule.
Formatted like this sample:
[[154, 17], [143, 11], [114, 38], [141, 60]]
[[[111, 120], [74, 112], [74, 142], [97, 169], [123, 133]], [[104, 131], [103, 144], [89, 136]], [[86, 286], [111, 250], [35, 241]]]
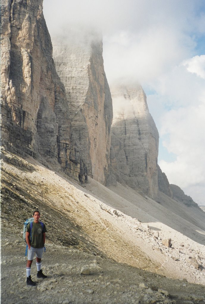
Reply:
[[102, 32], [108, 83], [140, 82], [170, 183], [205, 205], [205, 1], [44, 0], [48, 30]]

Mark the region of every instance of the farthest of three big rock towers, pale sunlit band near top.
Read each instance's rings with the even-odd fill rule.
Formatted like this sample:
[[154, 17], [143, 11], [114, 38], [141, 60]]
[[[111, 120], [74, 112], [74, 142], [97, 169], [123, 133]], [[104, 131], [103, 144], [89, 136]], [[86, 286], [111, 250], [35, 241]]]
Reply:
[[140, 85], [111, 88], [111, 179], [156, 197], [159, 135]]

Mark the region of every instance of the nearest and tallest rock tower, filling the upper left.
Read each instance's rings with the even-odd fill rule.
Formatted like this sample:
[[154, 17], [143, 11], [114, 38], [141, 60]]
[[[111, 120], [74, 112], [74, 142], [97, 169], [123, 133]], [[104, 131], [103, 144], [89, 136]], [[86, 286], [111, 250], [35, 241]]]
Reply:
[[86, 179], [52, 59], [43, 0], [1, 1], [2, 145]]

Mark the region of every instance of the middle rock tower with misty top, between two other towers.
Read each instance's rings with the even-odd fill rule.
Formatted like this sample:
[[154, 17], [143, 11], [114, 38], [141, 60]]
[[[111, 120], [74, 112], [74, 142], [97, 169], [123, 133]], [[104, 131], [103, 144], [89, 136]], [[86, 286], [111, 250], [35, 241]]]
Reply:
[[65, 85], [72, 130], [88, 175], [106, 184], [110, 163], [112, 99], [104, 72], [102, 38], [73, 30], [53, 37], [53, 58]]

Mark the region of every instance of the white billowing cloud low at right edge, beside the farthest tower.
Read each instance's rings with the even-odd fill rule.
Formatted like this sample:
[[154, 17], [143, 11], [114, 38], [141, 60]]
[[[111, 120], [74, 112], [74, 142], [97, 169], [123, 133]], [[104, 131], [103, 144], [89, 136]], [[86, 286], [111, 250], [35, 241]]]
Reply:
[[182, 188], [205, 184], [205, 104], [168, 112], [163, 128], [164, 146], [177, 155], [174, 162], [159, 161], [169, 182]]

